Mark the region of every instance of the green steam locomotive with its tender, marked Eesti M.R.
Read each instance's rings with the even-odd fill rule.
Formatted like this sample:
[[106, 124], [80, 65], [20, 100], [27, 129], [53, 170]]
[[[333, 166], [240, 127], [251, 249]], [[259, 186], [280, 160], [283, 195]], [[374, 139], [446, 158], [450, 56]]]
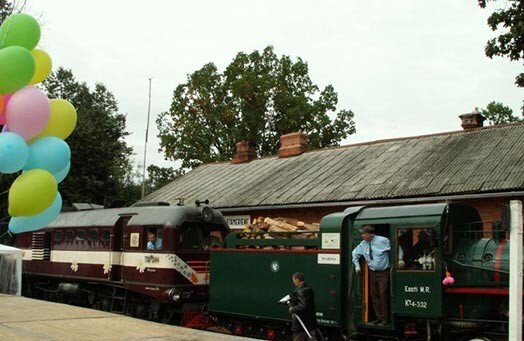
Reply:
[[[364, 225], [391, 243], [388, 326], [369, 323], [368, 270], [362, 264], [356, 275], [352, 263]], [[230, 234], [211, 252], [209, 309], [233, 333], [288, 339], [291, 317], [278, 300], [294, 289], [292, 274], [302, 272], [330, 340], [507, 338], [509, 246], [472, 207], [351, 207], [325, 216], [316, 239], [242, 237]], [[446, 274], [454, 284], [443, 285]]]

